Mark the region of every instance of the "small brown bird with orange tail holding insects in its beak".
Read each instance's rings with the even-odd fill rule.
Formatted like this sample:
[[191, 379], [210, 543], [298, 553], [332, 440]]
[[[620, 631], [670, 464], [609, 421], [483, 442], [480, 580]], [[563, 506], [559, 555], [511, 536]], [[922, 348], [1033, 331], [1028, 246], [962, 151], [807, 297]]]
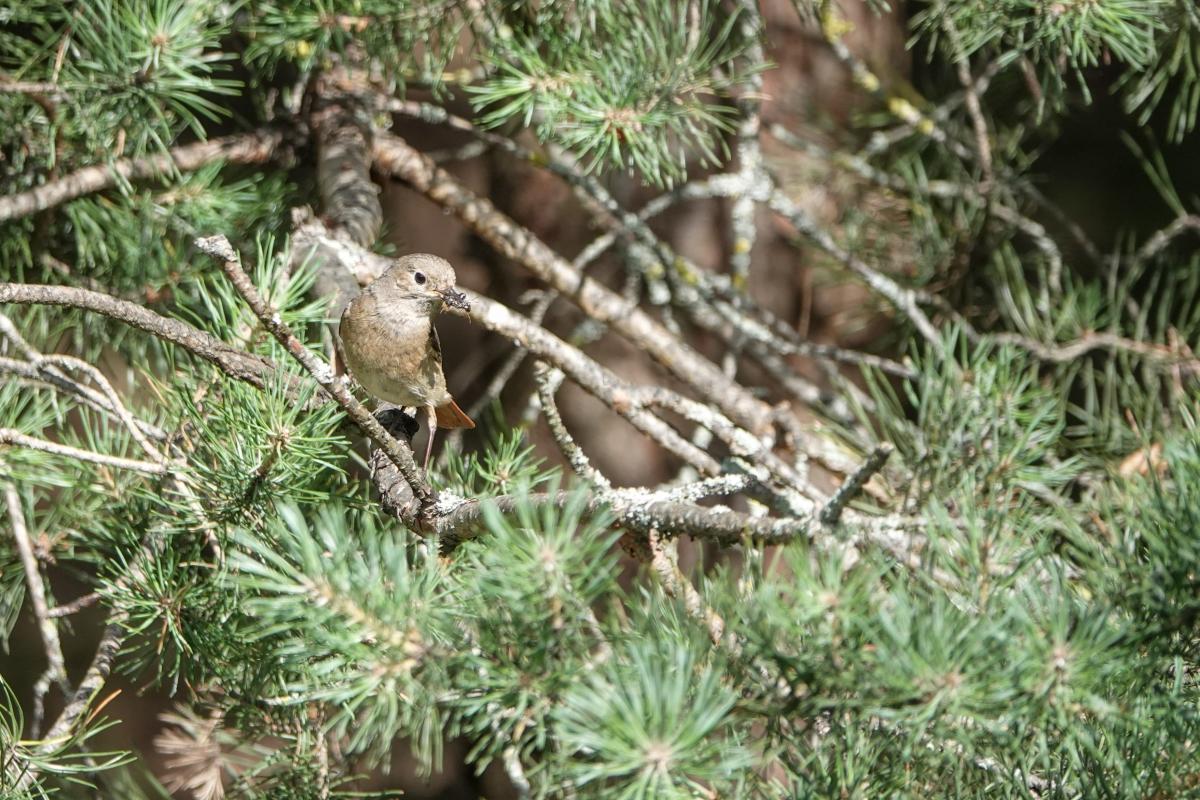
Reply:
[[364, 289], [342, 312], [337, 330], [346, 363], [364, 389], [389, 403], [425, 411], [430, 423], [426, 469], [439, 427], [475, 427], [450, 397], [442, 372], [433, 315], [443, 303], [469, 308], [455, 288], [454, 267], [444, 258], [414, 253]]

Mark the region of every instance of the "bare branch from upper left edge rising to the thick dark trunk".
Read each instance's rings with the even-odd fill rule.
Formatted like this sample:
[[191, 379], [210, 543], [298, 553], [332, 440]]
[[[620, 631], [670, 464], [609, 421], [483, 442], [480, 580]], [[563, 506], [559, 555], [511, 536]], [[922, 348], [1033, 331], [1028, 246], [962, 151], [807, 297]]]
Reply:
[[84, 167], [28, 192], [0, 198], [0, 222], [28, 217], [84, 194], [112, 188], [119, 181], [145, 180], [174, 172], [194, 172], [216, 161], [259, 164], [270, 160], [282, 143], [282, 131], [263, 128], [252, 133], [184, 145], [157, 156], [121, 158], [112, 164]]

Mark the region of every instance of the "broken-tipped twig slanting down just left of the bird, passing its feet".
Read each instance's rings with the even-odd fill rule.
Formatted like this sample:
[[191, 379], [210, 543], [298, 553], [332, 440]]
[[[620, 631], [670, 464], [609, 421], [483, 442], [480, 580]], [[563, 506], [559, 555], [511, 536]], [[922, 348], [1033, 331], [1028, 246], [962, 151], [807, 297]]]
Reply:
[[380, 450], [383, 450], [388, 457], [396, 464], [408, 481], [408, 485], [413, 489], [413, 494], [416, 497], [419, 511], [418, 519], [410, 522], [422, 522], [427, 521], [433, 513], [433, 504], [437, 501], [437, 495], [430, 487], [428, 481], [421, 475], [416, 467], [416, 462], [413, 461], [412, 450], [397, 441], [391, 437], [379, 421], [376, 420], [371, 414], [359, 403], [353, 395], [346, 389], [344, 384], [334, 375], [334, 371], [329, 368], [329, 365], [322, 363], [317, 360], [308, 348], [296, 338], [292, 329], [287, 326], [283, 319], [280, 317], [278, 312], [271, 308], [265, 300], [258, 294], [258, 289], [251, 282], [250, 276], [241, 269], [239, 264], [238, 253], [233, 249], [229, 240], [224, 236], [209, 236], [204, 239], [196, 240], [196, 247], [212, 258], [220, 260], [224, 267], [226, 276], [229, 282], [233, 283], [238, 294], [242, 296], [246, 305], [250, 306], [258, 320], [266, 327], [268, 331], [278, 341], [280, 344], [292, 355], [293, 359], [300, 362], [300, 366], [311, 374], [322, 389], [324, 389], [329, 395], [337, 402], [338, 405], [346, 411], [347, 416], [359, 426], [359, 428], [374, 441]]

